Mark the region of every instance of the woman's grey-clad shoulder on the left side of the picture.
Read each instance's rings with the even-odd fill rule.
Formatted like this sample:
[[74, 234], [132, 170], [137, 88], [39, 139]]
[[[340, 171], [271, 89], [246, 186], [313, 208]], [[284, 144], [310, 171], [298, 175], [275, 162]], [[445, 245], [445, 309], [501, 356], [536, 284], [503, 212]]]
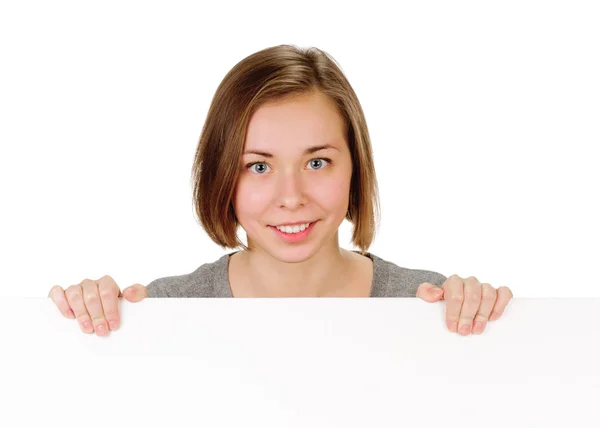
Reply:
[[229, 254], [184, 275], [157, 278], [146, 286], [148, 297], [227, 297]]

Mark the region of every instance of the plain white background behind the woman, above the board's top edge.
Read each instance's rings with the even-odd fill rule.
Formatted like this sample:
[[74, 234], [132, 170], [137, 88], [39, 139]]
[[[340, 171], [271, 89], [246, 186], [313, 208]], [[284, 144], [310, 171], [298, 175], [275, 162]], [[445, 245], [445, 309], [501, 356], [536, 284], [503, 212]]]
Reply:
[[332, 54], [364, 108], [373, 253], [600, 296], [598, 22], [593, 1], [2, 2], [0, 295], [224, 254], [192, 210], [197, 140], [225, 74], [287, 43]]

